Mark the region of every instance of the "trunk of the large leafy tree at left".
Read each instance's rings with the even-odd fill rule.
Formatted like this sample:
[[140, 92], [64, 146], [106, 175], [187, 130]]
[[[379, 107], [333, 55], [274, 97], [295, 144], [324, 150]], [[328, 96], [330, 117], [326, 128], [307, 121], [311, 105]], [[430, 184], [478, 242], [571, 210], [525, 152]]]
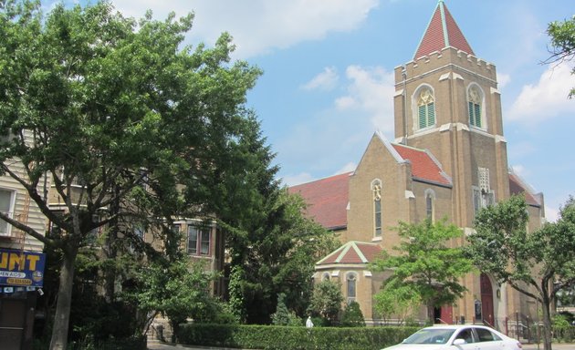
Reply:
[[63, 254], [50, 350], [65, 350], [68, 345], [72, 284], [74, 283], [74, 262], [76, 262], [77, 255], [78, 247], [72, 247]]

